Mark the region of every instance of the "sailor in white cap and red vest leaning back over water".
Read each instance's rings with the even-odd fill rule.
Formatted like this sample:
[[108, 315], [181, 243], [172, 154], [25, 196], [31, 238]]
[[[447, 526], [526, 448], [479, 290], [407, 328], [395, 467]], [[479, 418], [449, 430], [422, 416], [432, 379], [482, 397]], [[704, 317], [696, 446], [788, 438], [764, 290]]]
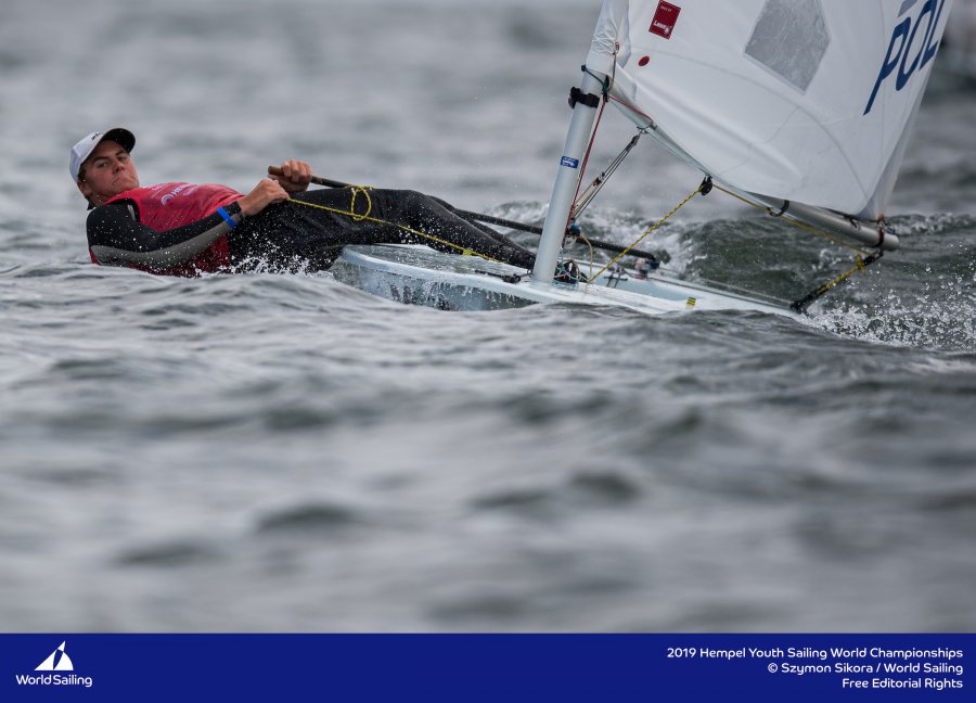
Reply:
[[535, 263], [528, 250], [415, 191], [309, 191], [312, 169], [297, 159], [284, 162], [282, 176], [261, 180], [246, 195], [217, 184], [142, 187], [134, 145], [132, 132], [116, 127], [72, 148], [72, 178], [91, 210], [88, 248], [94, 264], [169, 276], [321, 270], [347, 244], [427, 244], [519, 268]]

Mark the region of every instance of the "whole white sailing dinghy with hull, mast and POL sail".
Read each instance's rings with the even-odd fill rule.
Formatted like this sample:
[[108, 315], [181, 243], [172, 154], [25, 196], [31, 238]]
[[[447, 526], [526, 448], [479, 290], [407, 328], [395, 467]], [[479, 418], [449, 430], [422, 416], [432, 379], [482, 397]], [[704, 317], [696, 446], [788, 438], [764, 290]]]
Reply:
[[[648, 312], [805, 311], [899, 245], [886, 206], [951, 2], [605, 0], [570, 91], [573, 119], [531, 274], [475, 257], [347, 247], [336, 276], [446, 309], [572, 301]], [[594, 276], [558, 276], [577, 219], [637, 143], [581, 188], [607, 104], [638, 138], [654, 138], [705, 177], [664, 219], [715, 188], [850, 248], [851, 266], [784, 305], [627, 268], [620, 260], [631, 247]]]

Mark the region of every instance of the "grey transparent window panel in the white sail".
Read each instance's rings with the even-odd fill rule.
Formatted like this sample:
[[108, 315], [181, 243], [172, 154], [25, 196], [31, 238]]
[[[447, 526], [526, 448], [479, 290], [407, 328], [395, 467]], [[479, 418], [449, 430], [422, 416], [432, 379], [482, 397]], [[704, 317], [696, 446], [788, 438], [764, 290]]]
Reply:
[[766, 0], [745, 53], [806, 92], [830, 43], [820, 0]]

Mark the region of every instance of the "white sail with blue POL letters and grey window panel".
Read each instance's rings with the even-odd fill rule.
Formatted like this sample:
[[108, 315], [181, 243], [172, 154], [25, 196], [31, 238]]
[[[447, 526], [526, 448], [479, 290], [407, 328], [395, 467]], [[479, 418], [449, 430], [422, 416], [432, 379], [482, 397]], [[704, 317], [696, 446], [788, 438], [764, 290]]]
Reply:
[[587, 66], [717, 181], [875, 220], [951, 4], [605, 0]]

